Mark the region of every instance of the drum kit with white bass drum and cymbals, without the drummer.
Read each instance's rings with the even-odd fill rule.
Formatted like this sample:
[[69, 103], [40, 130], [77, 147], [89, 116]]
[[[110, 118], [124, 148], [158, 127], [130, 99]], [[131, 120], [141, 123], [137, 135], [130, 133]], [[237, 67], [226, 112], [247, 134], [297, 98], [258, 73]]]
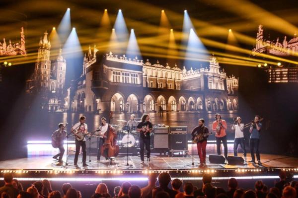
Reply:
[[136, 129], [130, 130], [126, 120], [117, 120], [119, 125], [112, 125], [118, 134], [117, 142], [122, 147], [139, 147], [139, 133]]

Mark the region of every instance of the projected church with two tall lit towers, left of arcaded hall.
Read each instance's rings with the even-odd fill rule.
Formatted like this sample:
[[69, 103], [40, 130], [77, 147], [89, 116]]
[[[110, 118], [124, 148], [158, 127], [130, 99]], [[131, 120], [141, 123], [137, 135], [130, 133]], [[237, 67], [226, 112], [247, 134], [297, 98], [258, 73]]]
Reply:
[[60, 49], [58, 57], [50, 60], [51, 42], [48, 33], [40, 39], [34, 73], [26, 81], [27, 93], [42, 98], [41, 108], [48, 111], [63, 111], [65, 105], [66, 61]]

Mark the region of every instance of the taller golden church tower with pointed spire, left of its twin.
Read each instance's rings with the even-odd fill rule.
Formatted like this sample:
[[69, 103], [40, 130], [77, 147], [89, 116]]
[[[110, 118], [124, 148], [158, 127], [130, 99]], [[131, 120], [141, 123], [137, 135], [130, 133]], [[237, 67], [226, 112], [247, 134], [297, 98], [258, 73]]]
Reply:
[[48, 40], [48, 33], [44, 33], [43, 39], [40, 38], [37, 60], [34, 70], [34, 81], [38, 89], [47, 89], [50, 84], [51, 77], [51, 61], [50, 61], [51, 43]]

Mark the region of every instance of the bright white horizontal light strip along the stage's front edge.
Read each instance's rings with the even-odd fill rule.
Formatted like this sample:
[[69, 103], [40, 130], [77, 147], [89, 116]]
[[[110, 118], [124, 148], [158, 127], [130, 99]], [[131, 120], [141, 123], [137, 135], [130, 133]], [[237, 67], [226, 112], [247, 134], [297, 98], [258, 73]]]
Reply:
[[[235, 178], [237, 180], [254, 180], [254, 179], [278, 179], [279, 176], [243, 176], [243, 177], [212, 177], [213, 180], [228, 180]], [[294, 175], [298, 178], [298, 175]], [[123, 178], [14, 178], [18, 181], [42, 181], [47, 179], [49, 181], [72, 181], [72, 182], [99, 182], [99, 181], [148, 181], [147, 177], [123, 177]], [[176, 179], [173, 177], [172, 179]], [[202, 180], [202, 177], [177, 177], [180, 180]], [[3, 178], [0, 178], [3, 180]]]

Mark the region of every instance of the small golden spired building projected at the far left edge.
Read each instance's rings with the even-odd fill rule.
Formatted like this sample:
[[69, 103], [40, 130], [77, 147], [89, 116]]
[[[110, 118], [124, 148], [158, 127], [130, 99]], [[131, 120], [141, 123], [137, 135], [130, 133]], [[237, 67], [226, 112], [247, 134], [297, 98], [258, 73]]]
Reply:
[[11, 41], [9, 40], [9, 43], [7, 44], [5, 41], [5, 38], [3, 38], [3, 42], [0, 42], [0, 57], [3, 56], [16, 56], [16, 55], [22, 55], [26, 56], [26, 49], [25, 49], [25, 35], [24, 35], [24, 28], [21, 27], [21, 40], [20, 43], [11, 44]]

